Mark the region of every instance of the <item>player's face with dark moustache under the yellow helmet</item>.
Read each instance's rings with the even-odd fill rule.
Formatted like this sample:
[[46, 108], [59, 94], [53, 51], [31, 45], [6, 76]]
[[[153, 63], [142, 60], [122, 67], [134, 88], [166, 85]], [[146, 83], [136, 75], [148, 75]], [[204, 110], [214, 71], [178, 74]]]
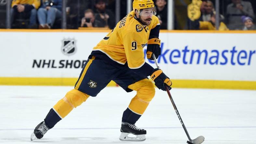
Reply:
[[142, 9], [140, 11], [140, 21], [143, 25], [150, 25], [152, 16], [154, 15], [154, 8]]

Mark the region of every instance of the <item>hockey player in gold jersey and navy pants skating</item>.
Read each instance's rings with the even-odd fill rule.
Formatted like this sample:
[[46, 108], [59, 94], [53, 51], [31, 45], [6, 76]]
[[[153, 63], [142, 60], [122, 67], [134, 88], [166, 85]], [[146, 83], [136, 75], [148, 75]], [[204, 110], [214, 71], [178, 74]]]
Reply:
[[[153, 83], [165, 90], [171, 89], [172, 82], [162, 70], [147, 64], [143, 47], [147, 44], [147, 58], [160, 55], [159, 30], [160, 23], [152, 0], [134, 0], [133, 11], [117, 23], [115, 28], [93, 48], [88, 61], [75, 84], [75, 88], [67, 92], [50, 109], [49, 113], [31, 134], [31, 140], [40, 139], [90, 96], [95, 97], [104, 89], [110, 80], [115, 81], [126, 92], [137, 91], [128, 108], [123, 112], [120, 140], [143, 141], [146, 130], [134, 124], [146, 110], [155, 95]], [[136, 138], [128, 137], [134, 134]]]

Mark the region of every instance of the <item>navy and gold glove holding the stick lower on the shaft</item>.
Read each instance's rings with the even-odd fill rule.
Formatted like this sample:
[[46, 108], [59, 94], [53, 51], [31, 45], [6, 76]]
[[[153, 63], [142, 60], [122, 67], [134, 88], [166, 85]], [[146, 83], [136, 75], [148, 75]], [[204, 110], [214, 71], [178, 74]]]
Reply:
[[172, 86], [172, 81], [170, 80], [170, 78], [168, 78], [161, 69], [159, 68], [156, 68], [152, 71], [152, 74], [150, 76], [150, 78], [152, 80], [154, 80], [155, 82], [155, 85], [157, 86], [158, 89], [161, 89], [161, 90], [164, 90], [166, 91], [165, 89], [165, 86], [164, 85], [167, 85], [168, 86], [168, 89], [171, 90], [171, 86]]

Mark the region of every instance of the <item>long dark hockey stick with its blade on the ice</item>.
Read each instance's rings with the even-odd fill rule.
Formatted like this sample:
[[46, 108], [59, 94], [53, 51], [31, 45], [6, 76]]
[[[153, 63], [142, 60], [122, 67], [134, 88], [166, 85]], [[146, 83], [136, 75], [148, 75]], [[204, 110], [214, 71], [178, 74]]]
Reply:
[[[156, 66], [160, 69], [160, 67], [158, 66], [158, 63], [157, 63], [157, 59], [156, 59], [155, 54], [153, 54], [153, 59], [154, 59], [154, 61], [155, 61]], [[172, 104], [173, 104], [173, 108], [174, 108], [174, 110], [175, 110], [175, 112], [176, 112], [178, 118], [180, 119], [180, 123], [181, 123], [183, 129], [184, 129], [185, 132], [186, 132], [187, 138], [188, 138], [188, 140], [189, 140], [189, 141], [187, 141], [187, 143], [188, 143], [188, 144], [200, 144], [200, 143], [204, 142], [204, 137], [203, 137], [203, 136], [199, 136], [199, 137], [197, 137], [196, 139], [191, 139], [191, 138], [190, 138], [190, 136], [189, 136], [189, 134], [188, 134], [188, 132], [187, 132], [186, 126], [184, 125], [184, 123], [183, 123], [183, 121], [182, 121], [182, 119], [181, 119], [181, 116], [180, 116], [180, 114], [179, 114], [179, 111], [178, 111], [178, 109], [177, 109], [177, 107], [176, 107], [176, 105], [175, 105], [175, 103], [174, 103], [174, 101], [173, 101], [173, 97], [172, 97], [172, 95], [171, 95], [171, 93], [170, 93], [170, 91], [169, 91], [167, 85], [165, 85], [165, 89], [166, 89], [166, 91], [167, 91], [167, 93], [168, 93], [168, 96], [169, 96], [169, 98], [170, 98], [170, 100], [171, 100], [171, 102], [172, 102]]]

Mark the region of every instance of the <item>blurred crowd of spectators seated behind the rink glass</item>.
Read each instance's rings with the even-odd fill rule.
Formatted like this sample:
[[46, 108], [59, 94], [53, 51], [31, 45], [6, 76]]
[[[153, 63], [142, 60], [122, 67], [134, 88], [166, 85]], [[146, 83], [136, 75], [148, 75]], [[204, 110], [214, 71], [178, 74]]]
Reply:
[[[229, 3], [225, 6], [225, 10], [221, 11], [219, 30], [256, 30], [254, 25], [255, 3], [252, 5], [251, 0], [225, 1]], [[120, 1], [121, 19], [126, 15], [126, 2], [126, 0]], [[161, 29], [167, 29], [168, 1], [154, 0], [154, 2]], [[183, 5], [192, 3], [191, 0], [175, 0], [177, 5], [181, 2]], [[178, 6], [175, 7], [174, 29], [215, 30], [216, 11], [214, 3], [215, 0], [202, 0], [200, 4], [201, 15], [196, 20], [189, 19], [187, 13], [179, 9]], [[113, 29], [116, 25], [115, 13], [115, 0], [67, 0], [67, 28], [100, 27]], [[10, 18], [13, 29], [60, 29], [62, 0], [12, 0]]]

